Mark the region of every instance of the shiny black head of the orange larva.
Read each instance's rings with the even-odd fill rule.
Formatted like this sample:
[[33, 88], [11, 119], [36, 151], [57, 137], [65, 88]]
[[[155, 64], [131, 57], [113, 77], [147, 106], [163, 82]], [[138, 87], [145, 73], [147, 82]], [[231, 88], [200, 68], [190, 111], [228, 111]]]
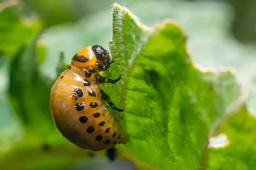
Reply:
[[109, 62], [110, 60], [109, 52], [105, 50], [102, 46], [93, 45], [92, 49], [96, 56], [96, 59], [99, 60], [99, 62], [102, 62], [102, 63]]

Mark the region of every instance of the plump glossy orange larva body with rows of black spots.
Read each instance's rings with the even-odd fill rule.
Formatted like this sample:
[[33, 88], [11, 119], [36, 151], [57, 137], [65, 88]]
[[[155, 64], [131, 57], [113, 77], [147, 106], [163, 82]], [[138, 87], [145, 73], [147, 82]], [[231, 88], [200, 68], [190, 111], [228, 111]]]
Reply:
[[[84, 49], [79, 51], [67, 66], [68, 69], [58, 77], [52, 86], [50, 108], [55, 125], [70, 142], [84, 149], [104, 150], [127, 142], [128, 137], [105, 104], [110, 100], [104, 98], [105, 94], [99, 87], [102, 80], [96, 81], [100, 77], [99, 67], [102, 67], [99, 64], [107, 65], [109, 57], [104, 58], [105, 54], [105, 60], [98, 61], [95, 54], [89, 54], [93, 52], [93, 47], [87, 47], [82, 54], [79, 52]], [[103, 49], [98, 47], [99, 50]], [[78, 55], [79, 59], [76, 58]], [[89, 58], [87, 63], [80, 62], [86, 60], [81, 57]]]

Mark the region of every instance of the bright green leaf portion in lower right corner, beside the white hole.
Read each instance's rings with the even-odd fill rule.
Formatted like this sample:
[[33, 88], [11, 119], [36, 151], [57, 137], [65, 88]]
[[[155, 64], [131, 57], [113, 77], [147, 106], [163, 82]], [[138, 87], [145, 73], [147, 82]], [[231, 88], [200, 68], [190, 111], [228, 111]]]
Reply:
[[256, 159], [256, 121], [245, 107], [229, 117], [221, 129], [227, 136], [227, 147], [212, 147], [208, 167], [218, 170], [253, 170]]

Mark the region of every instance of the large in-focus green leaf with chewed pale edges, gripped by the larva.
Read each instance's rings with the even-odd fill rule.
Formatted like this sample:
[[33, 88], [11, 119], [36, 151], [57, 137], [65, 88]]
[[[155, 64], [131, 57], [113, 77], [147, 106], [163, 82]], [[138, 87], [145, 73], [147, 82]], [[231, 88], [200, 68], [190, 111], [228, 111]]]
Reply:
[[125, 109], [120, 114], [131, 137], [127, 145], [118, 146], [120, 156], [134, 156], [141, 169], [213, 168], [206, 164], [209, 138], [219, 134], [249, 96], [233, 70], [197, 67], [179, 26], [165, 21], [148, 28], [118, 4], [110, 49], [115, 62], [106, 75], [121, 74], [122, 81], [105, 91], [111, 98], [120, 96]]

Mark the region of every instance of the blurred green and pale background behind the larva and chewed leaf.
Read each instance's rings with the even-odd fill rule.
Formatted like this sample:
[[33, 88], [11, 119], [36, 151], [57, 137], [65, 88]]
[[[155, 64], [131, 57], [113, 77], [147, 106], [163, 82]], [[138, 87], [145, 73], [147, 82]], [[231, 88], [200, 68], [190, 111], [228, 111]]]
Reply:
[[0, 0], [3, 169], [135, 169], [130, 161], [111, 162], [105, 152], [93, 156], [67, 142], [49, 111], [60, 51], [69, 63], [84, 46], [108, 48], [115, 2], [147, 26], [167, 18], [181, 25], [198, 64], [236, 68], [241, 84], [252, 91], [249, 105], [256, 113], [255, 0]]

